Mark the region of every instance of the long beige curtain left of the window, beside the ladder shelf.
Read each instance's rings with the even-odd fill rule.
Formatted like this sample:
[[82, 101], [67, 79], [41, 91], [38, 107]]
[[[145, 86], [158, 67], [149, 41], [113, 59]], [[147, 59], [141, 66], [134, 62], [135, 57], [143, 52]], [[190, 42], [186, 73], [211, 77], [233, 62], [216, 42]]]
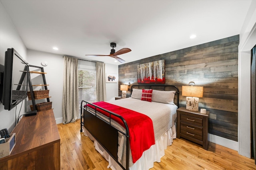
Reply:
[[74, 123], [78, 118], [78, 59], [63, 57], [63, 124]]

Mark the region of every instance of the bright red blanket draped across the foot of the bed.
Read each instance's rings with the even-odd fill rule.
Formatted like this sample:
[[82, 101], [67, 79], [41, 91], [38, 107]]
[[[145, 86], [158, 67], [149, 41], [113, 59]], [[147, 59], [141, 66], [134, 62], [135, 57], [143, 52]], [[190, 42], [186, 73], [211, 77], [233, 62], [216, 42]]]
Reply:
[[[130, 148], [133, 163], [142, 156], [142, 153], [145, 150], [148, 150], [155, 144], [153, 122], [147, 115], [106, 102], [95, 102], [93, 104], [121, 115], [125, 119], [129, 128]], [[87, 106], [93, 109], [95, 108], [91, 105]], [[106, 111], [98, 108], [96, 110], [109, 117], [109, 113]], [[111, 118], [124, 127], [124, 123], [121, 119], [115, 116], [111, 116]]]

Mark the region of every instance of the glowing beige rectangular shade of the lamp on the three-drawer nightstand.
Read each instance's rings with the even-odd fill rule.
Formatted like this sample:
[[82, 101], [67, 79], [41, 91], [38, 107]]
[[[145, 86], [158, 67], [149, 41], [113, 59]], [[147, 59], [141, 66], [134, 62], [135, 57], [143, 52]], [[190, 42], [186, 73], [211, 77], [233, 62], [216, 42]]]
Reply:
[[203, 91], [204, 86], [182, 86], [182, 96], [202, 98]]

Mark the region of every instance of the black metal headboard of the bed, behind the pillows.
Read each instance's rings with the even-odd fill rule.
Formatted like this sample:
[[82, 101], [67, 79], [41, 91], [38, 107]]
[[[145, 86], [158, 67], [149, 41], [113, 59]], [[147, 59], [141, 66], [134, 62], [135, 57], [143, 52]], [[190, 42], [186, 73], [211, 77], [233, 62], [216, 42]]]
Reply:
[[173, 85], [132, 85], [131, 87], [131, 94], [132, 94], [132, 89], [153, 89], [153, 90], [162, 90], [162, 91], [176, 91], [175, 96], [174, 96], [174, 104], [176, 104], [179, 107], [179, 98], [180, 98], [180, 91], [178, 87], [173, 86]]

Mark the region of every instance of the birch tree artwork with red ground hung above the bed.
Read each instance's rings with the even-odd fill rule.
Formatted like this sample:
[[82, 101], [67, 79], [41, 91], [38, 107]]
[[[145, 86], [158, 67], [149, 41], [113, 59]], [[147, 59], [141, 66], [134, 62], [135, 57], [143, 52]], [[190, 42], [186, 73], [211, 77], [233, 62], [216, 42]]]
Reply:
[[164, 60], [139, 64], [137, 66], [138, 84], [164, 84]]

